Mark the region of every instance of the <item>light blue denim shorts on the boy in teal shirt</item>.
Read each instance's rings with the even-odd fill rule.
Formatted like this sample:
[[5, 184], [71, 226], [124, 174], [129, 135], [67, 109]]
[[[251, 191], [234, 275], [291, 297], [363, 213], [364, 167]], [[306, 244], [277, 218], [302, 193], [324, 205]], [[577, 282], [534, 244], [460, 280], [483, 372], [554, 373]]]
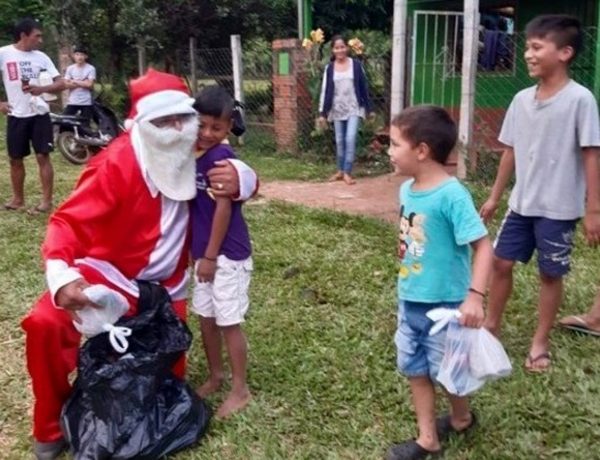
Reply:
[[398, 370], [402, 374], [408, 378], [429, 377], [432, 382], [437, 382], [436, 377], [446, 346], [447, 326], [430, 336], [429, 330], [433, 321], [425, 314], [433, 308], [458, 308], [460, 304], [400, 301], [398, 329], [394, 341], [398, 350]]

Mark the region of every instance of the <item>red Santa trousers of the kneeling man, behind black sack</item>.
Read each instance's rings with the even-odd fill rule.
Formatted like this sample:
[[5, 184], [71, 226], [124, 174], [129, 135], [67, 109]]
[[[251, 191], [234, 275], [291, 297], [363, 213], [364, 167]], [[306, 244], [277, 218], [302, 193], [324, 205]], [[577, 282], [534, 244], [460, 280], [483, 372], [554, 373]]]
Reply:
[[[87, 266], [79, 268], [90, 284], [104, 284], [123, 294], [129, 301], [129, 313], [135, 313], [135, 297], [108, 282], [96, 270]], [[186, 301], [173, 302], [173, 309], [185, 321]], [[48, 291], [34, 304], [21, 326], [26, 332], [27, 370], [31, 375], [35, 399], [33, 437], [40, 442], [56, 441], [63, 436], [59, 425], [60, 412], [71, 394], [69, 374], [77, 367], [81, 335], [73, 327], [69, 314], [54, 307]], [[184, 377], [185, 357], [178, 361], [173, 371]]]

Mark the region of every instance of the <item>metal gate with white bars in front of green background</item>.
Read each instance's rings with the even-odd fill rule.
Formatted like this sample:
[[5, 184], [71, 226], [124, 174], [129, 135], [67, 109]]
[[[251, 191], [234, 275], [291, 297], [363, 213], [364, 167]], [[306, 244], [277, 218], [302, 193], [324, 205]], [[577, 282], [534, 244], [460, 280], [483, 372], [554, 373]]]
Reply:
[[410, 102], [460, 107], [463, 13], [418, 10], [413, 15]]

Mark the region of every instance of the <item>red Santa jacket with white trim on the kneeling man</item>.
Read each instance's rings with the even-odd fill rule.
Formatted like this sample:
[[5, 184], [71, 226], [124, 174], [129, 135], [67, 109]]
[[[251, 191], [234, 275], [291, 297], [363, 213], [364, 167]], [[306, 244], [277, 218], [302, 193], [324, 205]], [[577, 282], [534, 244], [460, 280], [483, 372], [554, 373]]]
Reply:
[[86, 264], [133, 295], [134, 280], [143, 279], [163, 284], [174, 300], [185, 298], [188, 203], [154, 195], [129, 134], [121, 135], [90, 161], [50, 217], [42, 245], [47, 270], [57, 261]]

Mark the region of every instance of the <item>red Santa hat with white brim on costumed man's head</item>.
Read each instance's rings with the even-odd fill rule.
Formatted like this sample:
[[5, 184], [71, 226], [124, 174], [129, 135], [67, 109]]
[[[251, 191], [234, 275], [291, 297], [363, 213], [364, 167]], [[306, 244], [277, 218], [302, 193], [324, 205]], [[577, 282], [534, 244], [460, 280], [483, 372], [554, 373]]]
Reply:
[[154, 120], [169, 115], [194, 115], [194, 99], [181, 77], [148, 69], [141, 77], [129, 82], [131, 111], [125, 120], [130, 130], [135, 122]]

